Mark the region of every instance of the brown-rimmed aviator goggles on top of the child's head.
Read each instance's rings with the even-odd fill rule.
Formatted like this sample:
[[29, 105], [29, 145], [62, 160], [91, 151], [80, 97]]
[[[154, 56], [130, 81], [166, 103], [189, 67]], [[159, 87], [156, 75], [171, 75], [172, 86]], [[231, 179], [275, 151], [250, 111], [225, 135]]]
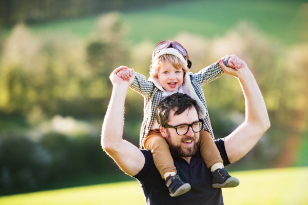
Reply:
[[158, 54], [160, 51], [167, 49], [167, 48], [174, 48], [177, 51], [179, 51], [180, 54], [184, 57], [184, 59], [187, 61], [187, 67], [191, 68], [191, 61], [189, 60], [189, 55], [186, 51], [186, 49], [179, 44], [178, 42], [170, 42], [170, 40], [164, 40], [163, 42], [159, 43], [154, 51], [153, 51], [153, 56]]

